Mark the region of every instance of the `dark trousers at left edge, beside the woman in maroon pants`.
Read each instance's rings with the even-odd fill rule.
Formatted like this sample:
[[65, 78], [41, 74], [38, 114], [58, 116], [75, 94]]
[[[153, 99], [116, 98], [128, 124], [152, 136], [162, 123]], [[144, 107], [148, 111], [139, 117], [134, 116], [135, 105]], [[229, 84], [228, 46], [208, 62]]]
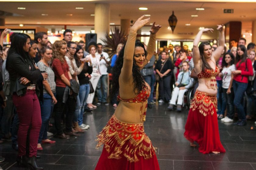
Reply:
[[11, 120], [14, 114], [14, 104], [12, 101], [12, 96], [6, 96], [6, 107], [3, 109], [3, 116], [1, 120], [1, 126], [2, 126], [2, 134], [3, 136], [7, 137], [9, 136], [10, 128], [11, 128]]

